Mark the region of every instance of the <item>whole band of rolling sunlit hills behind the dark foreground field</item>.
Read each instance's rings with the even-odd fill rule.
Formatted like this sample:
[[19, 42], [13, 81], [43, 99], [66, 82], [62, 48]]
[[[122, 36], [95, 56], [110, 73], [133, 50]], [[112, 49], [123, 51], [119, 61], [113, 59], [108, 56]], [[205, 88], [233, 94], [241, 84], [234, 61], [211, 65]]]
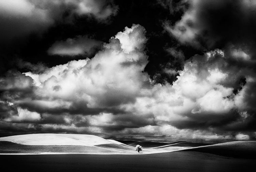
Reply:
[[140, 142], [107, 140], [82, 134], [28, 134], [0, 138], [0, 154], [136, 154], [135, 146], [143, 147], [143, 154], [177, 151], [200, 152], [235, 158], [256, 159], [256, 141], [234, 141], [206, 145], [191, 142]]

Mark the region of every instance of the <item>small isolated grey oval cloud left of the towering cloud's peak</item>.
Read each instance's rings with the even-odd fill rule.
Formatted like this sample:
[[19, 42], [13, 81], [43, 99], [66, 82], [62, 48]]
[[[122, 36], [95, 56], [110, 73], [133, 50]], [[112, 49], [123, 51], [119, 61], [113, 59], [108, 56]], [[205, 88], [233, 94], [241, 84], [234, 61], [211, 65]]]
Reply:
[[100, 49], [102, 42], [87, 36], [78, 36], [76, 38], [68, 38], [65, 41], [56, 41], [49, 49], [49, 55], [75, 56], [84, 55], [91, 56]]

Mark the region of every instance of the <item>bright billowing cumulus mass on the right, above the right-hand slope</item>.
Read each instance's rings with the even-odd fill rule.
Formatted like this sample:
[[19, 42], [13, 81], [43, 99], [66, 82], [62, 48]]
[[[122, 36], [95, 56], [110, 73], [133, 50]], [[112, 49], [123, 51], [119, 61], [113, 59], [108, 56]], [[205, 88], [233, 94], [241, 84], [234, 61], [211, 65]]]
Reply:
[[[169, 91], [172, 97], [180, 97], [181, 103], [176, 107], [172, 103], [174, 108], [169, 111], [186, 116], [188, 121], [195, 121], [195, 125], [201, 123], [211, 126], [234, 120], [236, 115], [233, 110], [242, 111], [251, 102], [245, 100], [247, 96], [244, 96], [244, 93], [248, 91], [248, 87], [254, 85], [255, 76], [254, 72], [247, 68], [230, 65], [229, 60], [232, 58], [235, 57], [228, 57], [223, 51], [215, 50], [187, 61], [184, 70], [180, 71], [180, 76], [173, 83], [174, 90]], [[247, 83], [242, 85], [238, 92], [234, 91], [243, 77], [247, 78]], [[167, 85], [162, 86], [165, 87]], [[168, 92], [165, 96], [168, 97]], [[167, 121], [173, 120], [172, 116], [168, 117]]]

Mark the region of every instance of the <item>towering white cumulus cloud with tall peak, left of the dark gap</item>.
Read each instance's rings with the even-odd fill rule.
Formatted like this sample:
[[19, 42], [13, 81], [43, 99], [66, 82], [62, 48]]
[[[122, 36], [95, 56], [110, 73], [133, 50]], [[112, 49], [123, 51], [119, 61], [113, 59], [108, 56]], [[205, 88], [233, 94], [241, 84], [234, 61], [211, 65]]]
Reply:
[[[16, 87], [24, 85], [32, 95], [12, 101], [41, 112], [82, 109], [80, 113], [87, 114], [87, 108], [114, 108], [133, 102], [140, 89], [149, 84], [147, 74], [141, 72], [147, 64], [144, 32], [140, 25], [133, 25], [112, 37], [92, 59], [70, 61], [41, 73], [26, 72], [19, 74], [17, 80], [8, 76], [2, 79], [2, 90], [17, 91]], [[127, 42], [133, 45], [128, 46]], [[19, 83], [21, 78], [28, 82]]]

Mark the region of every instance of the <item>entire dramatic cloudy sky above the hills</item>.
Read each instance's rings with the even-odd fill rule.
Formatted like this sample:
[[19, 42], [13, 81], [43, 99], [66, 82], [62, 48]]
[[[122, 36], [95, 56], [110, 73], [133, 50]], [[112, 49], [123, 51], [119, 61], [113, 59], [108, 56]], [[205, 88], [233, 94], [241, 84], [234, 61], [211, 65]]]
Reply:
[[256, 139], [253, 0], [0, 0], [0, 137]]

